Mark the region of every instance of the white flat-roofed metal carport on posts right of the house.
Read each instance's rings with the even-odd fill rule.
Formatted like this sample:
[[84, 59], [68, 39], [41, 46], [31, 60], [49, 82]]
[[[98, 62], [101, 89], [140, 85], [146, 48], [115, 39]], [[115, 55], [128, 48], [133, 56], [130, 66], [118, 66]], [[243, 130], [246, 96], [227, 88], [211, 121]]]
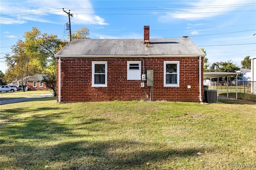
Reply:
[[[237, 75], [240, 73], [232, 73], [232, 72], [223, 72], [223, 71], [214, 71], [214, 72], [204, 72], [204, 79], [209, 78], [212, 81], [212, 78], [219, 78], [219, 77], [229, 77], [236, 75], [236, 99], [237, 99]], [[217, 94], [219, 94], [219, 79], [218, 79], [218, 89]], [[228, 97], [228, 86], [227, 86], [227, 97]]]

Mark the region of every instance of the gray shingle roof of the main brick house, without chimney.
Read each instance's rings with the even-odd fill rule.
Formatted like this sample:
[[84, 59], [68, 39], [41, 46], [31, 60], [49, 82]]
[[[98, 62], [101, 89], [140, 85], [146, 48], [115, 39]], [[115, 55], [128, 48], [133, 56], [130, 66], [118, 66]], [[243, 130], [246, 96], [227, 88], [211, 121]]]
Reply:
[[204, 52], [189, 38], [150, 39], [76, 39], [63, 47], [55, 57], [143, 55], [200, 55]]

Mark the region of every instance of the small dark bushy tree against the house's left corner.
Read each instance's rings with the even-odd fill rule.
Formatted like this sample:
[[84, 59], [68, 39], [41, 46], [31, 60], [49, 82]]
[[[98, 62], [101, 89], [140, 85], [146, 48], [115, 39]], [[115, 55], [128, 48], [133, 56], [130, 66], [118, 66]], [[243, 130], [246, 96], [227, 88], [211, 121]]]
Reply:
[[48, 89], [52, 89], [52, 94], [57, 96], [57, 78], [56, 71], [48, 71], [45, 75], [43, 75], [43, 83]]

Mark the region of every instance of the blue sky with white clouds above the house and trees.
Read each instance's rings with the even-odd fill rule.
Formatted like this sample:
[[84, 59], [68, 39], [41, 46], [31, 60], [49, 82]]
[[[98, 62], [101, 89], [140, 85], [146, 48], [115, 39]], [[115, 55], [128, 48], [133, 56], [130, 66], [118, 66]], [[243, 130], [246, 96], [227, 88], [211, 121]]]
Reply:
[[150, 38], [189, 36], [210, 65], [232, 60], [240, 66], [244, 57], [256, 57], [255, 0], [1, 0], [1, 71], [5, 54], [32, 27], [69, 40], [62, 8], [73, 14], [72, 32], [86, 27], [90, 38], [142, 39], [147, 25]]

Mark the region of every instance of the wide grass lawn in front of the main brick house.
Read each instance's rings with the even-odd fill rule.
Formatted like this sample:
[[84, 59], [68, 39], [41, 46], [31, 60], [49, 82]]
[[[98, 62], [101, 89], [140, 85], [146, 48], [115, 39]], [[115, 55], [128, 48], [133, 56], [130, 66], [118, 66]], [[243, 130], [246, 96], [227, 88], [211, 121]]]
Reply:
[[256, 103], [1, 105], [1, 169], [256, 168]]

